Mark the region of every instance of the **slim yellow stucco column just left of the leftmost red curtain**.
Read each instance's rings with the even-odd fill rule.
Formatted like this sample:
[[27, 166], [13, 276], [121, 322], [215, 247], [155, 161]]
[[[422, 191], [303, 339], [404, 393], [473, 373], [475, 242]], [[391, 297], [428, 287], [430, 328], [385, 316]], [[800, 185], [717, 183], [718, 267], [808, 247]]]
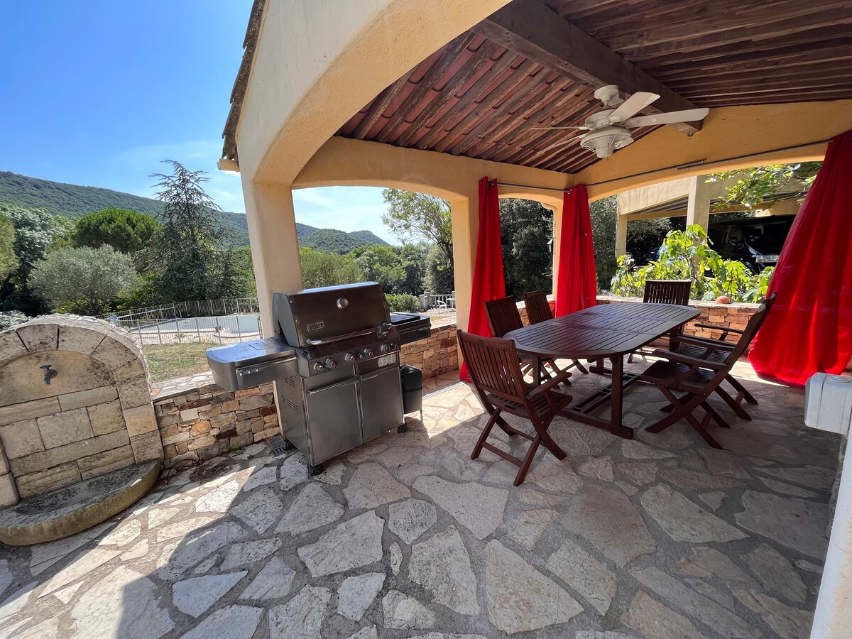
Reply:
[[[476, 186], [476, 185], [474, 185]], [[473, 293], [476, 235], [479, 233], [479, 195], [450, 200], [452, 211], [452, 270], [456, 281], [456, 325], [468, 330], [470, 296]]]

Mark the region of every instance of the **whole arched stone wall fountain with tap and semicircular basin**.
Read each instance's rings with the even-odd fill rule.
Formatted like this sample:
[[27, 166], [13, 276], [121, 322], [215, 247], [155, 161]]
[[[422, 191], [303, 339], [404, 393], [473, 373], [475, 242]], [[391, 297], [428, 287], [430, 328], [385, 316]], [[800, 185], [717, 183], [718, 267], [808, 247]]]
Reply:
[[95, 526], [145, 495], [162, 459], [145, 357], [126, 332], [46, 315], [0, 333], [0, 541]]

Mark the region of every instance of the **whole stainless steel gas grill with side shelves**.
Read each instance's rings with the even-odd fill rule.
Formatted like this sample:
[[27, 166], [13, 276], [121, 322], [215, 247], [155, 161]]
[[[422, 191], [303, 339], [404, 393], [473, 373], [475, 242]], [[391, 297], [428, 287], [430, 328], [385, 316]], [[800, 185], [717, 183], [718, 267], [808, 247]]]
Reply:
[[390, 429], [405, 431], [400, 344], [429, 337], [429, 317], [390, 314], [373, 282], [275, 293], [273, 317], [275, 337], [210, 348], [207, 359], [224, 388], [275, 382], [283, 435], [314, 474]]

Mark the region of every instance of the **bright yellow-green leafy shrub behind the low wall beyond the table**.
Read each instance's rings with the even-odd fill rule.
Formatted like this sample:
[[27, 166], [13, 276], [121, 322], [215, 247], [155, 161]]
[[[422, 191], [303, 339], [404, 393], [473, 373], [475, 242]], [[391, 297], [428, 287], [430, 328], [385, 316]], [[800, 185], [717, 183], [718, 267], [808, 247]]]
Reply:
[[697, 224], [685, 231], [665, 236], [660, 259], [638, 271], [630, 271], [625, 256], [619, 256], [619, 268], [613, 276], [613, 293], [641, 297], [646, 279], [692, 279], [692, 298], [714, 300], [728, 296], [731, 302], [762, 302], [774, 268], [751, 273], [742, 262], [722, 260], [711, 249], [706, 231]]

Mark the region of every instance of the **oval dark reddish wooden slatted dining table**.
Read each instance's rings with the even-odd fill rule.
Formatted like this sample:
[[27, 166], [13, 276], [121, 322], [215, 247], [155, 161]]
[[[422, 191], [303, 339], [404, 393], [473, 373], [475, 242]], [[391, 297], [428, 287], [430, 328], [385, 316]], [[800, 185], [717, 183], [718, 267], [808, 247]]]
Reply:
[[[699, 315], [697, 308], [647, 302], [601, 304], [562, 315], [553, 320], [509, 331], [506, 339], [515, 341], [519, 351], [540, 360], [596, 360], [590, 370], [611, 373], [613, 381], [562, 410], [565, 417], [607, 429], [613, 435], [632, 439], [633, 429], [622, 423], [624, 389], [639, 378], [625, 373], [624, 356], [658, 337], [674, 335]], [[603, 366], [610, 360], [611, 368]], [[540, 366], [535, 366], [538, 377]], [[538, 383], [538, 379], [536, 380]], [[609, 420], [592, 413], [609, 401]]]

